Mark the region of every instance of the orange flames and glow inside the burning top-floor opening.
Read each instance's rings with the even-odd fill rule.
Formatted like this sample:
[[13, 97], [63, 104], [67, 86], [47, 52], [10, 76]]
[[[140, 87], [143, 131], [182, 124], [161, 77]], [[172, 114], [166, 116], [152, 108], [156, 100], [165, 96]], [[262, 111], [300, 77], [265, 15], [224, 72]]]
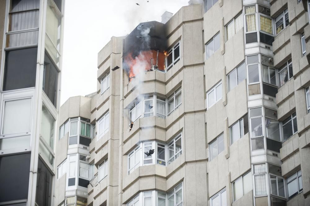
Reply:
[[[158, 53], [158, 62], [157, 62], [158, 70], [162, 71], [165, 70], [165, 58], [167, 56], [166, 54], [167, 54], [166, 51], [164, 51], [164, 53], [162, 52]], [[153, 65], [156, 65], [157, 51], [155, 50], [142, 51], [135, 58], [133, 58], [132, 54], [129, 53], [124, 58], [124, 62], [128, 66], [129, 81], [131, 81], [131, 79], [134, 78], [136, 75], [138, 75], [140, 72], [152, 69], [151, 59], [153, 61]]]

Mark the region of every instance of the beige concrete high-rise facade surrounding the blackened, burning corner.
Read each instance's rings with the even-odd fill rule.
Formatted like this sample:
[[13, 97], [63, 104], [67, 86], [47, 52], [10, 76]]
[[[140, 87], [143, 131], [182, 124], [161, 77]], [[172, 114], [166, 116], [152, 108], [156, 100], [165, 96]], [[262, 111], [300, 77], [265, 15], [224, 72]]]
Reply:
[[90, 206], [310, 205], [308, 2], [208, 2], [182, 7], [164, 24], [166, 50], [179, 44], [164, 72], [132, 79], [126, 37], [112, 37], [98, 53], [97, 91], [68, 99], [58, 124], [78, 117], [78, 132], [91, 124], [91, 142], [70, 144], [69, 129], [56, 155], [59, 167], [70, 155], [86, 156], [90, 184], [68, 186], [67, 164], [55, 205], [71, 196]]

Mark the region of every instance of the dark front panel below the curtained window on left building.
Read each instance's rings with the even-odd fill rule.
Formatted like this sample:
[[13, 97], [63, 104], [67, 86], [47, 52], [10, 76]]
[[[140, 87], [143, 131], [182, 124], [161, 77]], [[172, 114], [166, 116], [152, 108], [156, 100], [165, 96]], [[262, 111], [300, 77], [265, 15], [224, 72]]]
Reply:
[[3, 90], [34, 87], [37, 71], [37, 47], [6, 52]]

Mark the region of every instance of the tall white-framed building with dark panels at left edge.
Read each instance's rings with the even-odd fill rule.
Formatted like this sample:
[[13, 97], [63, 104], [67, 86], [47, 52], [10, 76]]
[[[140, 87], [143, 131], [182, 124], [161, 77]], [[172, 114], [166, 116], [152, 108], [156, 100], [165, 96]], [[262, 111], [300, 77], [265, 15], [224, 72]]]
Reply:
[[55, 204], [64, 1], [0, 0], [0, 205]]

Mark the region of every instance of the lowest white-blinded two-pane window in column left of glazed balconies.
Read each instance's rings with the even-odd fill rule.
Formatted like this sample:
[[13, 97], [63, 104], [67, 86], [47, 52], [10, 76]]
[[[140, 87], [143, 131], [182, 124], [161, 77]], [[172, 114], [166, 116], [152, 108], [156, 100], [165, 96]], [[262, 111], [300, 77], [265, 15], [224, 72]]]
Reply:
[[251, 171], [238, 178], [232, 183], [233, 201], [236, 201], [246, 193], [252, 190], [252, 173]]

